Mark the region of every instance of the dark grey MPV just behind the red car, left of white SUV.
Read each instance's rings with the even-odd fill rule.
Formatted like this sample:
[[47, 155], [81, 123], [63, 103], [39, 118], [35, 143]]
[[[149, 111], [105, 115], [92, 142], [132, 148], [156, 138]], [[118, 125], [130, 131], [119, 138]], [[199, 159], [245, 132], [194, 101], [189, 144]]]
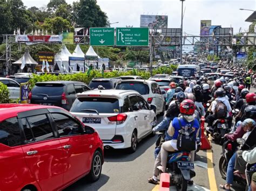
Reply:
[[90, 88], [82, 82], [37, 82], [29, 93], [28, 102], [41, 105], [56, 105], [69, 111], [76, 100], [76, 94], [88, 90]]

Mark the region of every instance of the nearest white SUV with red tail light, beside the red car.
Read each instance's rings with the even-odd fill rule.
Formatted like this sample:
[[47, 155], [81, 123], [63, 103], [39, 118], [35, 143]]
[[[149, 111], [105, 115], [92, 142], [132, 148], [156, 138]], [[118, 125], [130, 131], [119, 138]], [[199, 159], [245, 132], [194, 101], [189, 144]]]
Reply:
[[70, 112], [98, 131], [106, 149], [135, 152], [138, 140], [153, 135], [155, 110], [137, 91], [91, 90], [77, 94]]

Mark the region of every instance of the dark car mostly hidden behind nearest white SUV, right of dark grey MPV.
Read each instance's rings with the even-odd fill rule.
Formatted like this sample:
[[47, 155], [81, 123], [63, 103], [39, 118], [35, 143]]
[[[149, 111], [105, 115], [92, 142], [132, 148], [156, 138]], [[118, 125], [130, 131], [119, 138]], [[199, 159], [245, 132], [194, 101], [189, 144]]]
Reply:
[[104, 89], [114, 89], [114, 87], [116, 87], [117, 82], [119, 81], [121, 81], [120, 77], [95, 77], [90, 81], [89, 87], [91, 89], [97, 89], [99, 86], [103, 86]]

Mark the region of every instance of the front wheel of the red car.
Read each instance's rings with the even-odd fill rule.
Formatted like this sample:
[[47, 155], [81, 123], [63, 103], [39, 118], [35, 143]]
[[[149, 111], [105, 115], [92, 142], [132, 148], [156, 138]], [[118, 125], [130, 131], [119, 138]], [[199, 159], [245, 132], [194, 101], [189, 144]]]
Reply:
[[89, 179], [92, 182], [99, 180], [102, 173], [102, 154], [96, 151], [92, 158], [91, 171], [89, 173]]

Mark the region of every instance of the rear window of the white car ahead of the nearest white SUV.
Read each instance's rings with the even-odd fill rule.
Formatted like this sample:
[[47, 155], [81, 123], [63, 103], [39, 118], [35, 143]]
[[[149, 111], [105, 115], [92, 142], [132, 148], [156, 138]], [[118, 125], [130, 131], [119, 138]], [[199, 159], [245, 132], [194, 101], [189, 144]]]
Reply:
[[117, 84], [116, 89], [135, 90], [135, 91], [138, 91], [140, 95], [149, 94], [149, 86], [142, 82], [122, 82]]

